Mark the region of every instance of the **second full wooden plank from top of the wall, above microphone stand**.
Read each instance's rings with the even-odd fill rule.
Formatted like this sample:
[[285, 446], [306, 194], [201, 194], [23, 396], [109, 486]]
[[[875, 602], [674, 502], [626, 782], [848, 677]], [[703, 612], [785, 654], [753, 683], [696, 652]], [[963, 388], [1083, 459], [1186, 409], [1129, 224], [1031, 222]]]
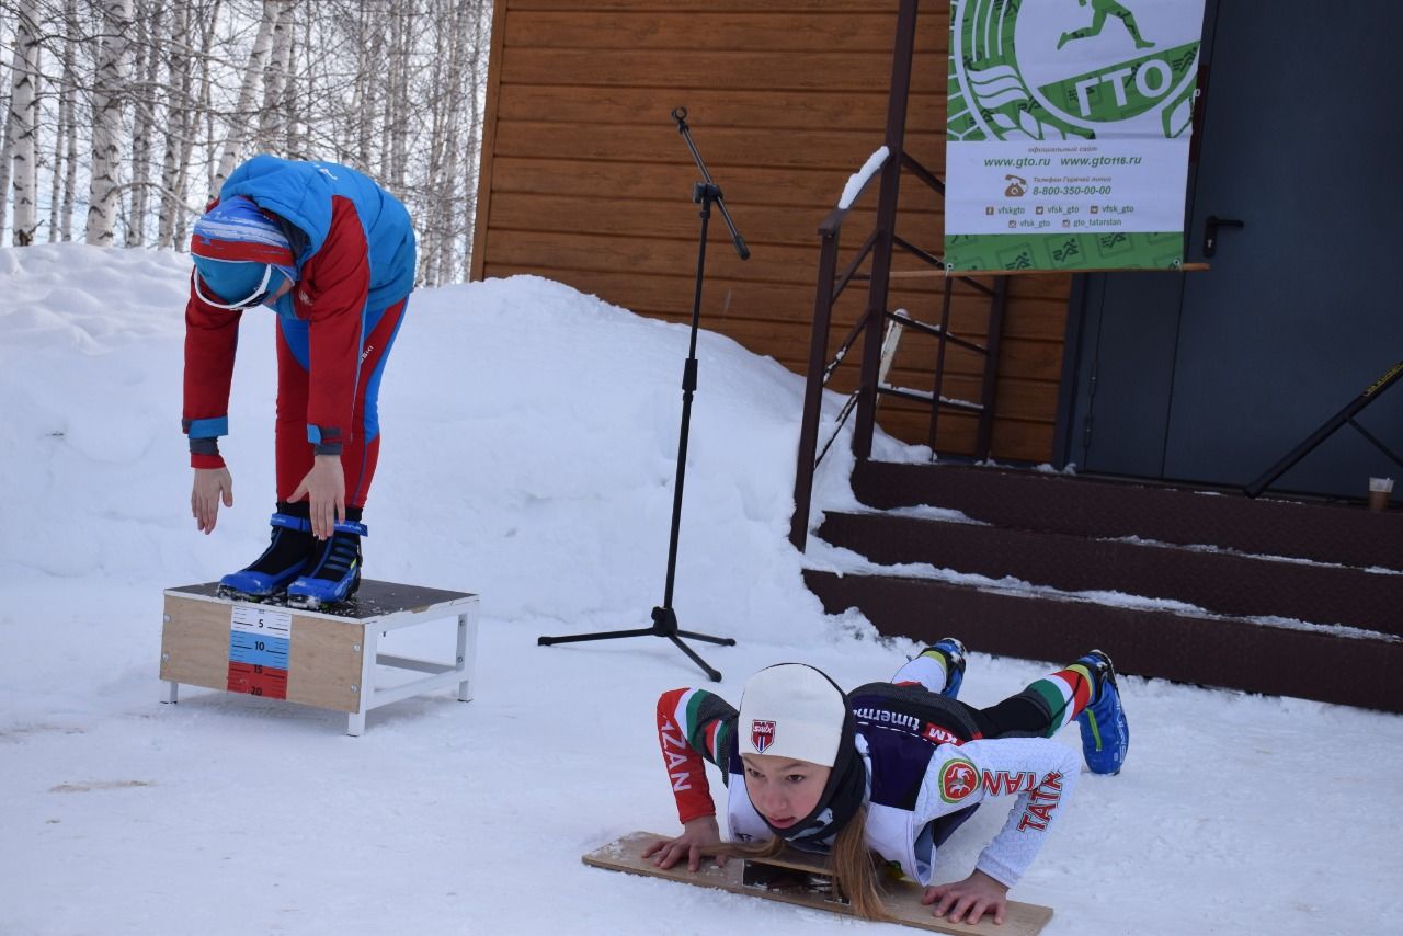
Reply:
[[[946, 90], [947, 56], [916, 52], [911, 88], [918, 94]], [[686, 55], [650, 49], [600, 55], [592, 49], [518, 46], [502, 62], [505, 84], [586, 87], [774, 88], [828, 93], [881, 91], [891, 84], [891, 52], [755, 52], [693, 51]]]

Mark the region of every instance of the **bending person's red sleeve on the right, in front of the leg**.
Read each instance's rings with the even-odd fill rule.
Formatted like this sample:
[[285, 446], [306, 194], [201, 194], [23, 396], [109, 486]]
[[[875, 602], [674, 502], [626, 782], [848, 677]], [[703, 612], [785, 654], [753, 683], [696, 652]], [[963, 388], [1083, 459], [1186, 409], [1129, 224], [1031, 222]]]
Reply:
[[340, 446], [351, 439], [362, 313], [369, 295], [365, 229], [351, 199], [334, 195], [327, 240], [303, 264], [293, 302], [297, 316], [310, 323], [307, 439], [313, 443]]

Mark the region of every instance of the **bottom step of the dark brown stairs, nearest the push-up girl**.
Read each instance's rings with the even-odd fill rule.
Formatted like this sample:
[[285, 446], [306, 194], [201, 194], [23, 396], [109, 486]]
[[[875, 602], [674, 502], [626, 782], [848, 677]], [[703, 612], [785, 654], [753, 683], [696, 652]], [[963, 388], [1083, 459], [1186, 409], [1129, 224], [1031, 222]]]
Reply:
[[[897, 575], [805, 570], [828, 613], [857, 608], [888, 636], [957, 636], [979, 653], [1061, 664], [1093, 647], [1141, 676], [1403, 711], [1403, 641], [1232, 617], [1099, 605]], [[1131, 718], [1134, 718], [1131, 713]]]

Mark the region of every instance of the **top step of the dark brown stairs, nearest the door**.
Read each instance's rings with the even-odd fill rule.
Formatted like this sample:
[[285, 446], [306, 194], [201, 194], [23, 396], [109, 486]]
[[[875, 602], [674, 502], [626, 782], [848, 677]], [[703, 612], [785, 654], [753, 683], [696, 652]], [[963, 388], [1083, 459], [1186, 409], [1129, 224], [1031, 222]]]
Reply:
[[878, 509], [932, 505], [995, 526], [1075, 536], [1139, 536], [1263, 556], [1403, 571], [1403, 511], [1250, 500], [1051, 472], [859, 462], [857, 498]]

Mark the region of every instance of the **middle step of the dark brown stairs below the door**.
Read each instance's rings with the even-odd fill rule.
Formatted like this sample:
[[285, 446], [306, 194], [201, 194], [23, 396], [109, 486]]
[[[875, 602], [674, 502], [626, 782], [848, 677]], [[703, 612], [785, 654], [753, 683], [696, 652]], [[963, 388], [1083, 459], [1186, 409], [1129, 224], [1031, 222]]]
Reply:
[[1403, 636], [1400, 574], [891, 514], [829, 512], [818, 535], [885, 566], [929, 563], [1059, 591], [1118, 591], [1218, 615]]

